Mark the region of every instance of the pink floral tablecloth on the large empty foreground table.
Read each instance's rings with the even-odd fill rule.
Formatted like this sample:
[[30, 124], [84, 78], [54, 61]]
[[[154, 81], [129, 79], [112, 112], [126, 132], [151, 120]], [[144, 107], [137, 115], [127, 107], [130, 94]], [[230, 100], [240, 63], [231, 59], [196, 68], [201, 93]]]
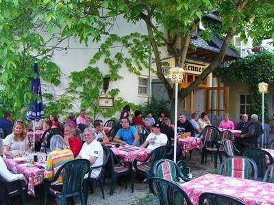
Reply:
[[274, 204], [273, 183], [206, 174], [181, 184], [181, 187], [193, 204], [199, 204], [199, 196], [204, 192], [231, 195], [247, 205]]

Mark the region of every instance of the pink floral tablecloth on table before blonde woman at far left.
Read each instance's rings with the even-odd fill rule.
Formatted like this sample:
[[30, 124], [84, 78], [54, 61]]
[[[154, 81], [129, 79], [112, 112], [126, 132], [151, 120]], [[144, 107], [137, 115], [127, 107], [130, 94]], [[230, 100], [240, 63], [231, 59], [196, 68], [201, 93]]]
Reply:
[[[23, 174], [29, 180], [27, 193], [34, 196], [34, 187], [44, 182], [45, 169], [39, 169], [37, 166], [27, 167], [26, 163], [16, 163], [13, 159], [3, 159], [10, 171], [15, 174]], [[45, 167], [45, 165], [42, 166]]]

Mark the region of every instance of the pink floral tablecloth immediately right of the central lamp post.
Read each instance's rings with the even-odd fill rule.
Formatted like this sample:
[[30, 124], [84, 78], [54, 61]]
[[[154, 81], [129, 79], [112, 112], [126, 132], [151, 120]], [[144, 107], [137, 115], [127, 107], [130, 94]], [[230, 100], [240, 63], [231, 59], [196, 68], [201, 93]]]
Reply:
[[182, 148], [183, 156], [185, 156], [186, 152], [189, 152], [189, 150], [203, 148], [203, 143], [198, 137], [187, 137], [186, 139], [179, 138], [177, 144]]

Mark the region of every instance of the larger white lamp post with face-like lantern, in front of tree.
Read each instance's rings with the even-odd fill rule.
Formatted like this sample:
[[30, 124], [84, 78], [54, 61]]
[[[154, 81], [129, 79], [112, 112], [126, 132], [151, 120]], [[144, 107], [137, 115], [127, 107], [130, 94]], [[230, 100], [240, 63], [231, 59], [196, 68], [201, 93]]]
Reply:
[[175, 111], [174, 111], [174, 149], [173, 160], [176, 163], [176, 148], [177, 148], [177, 104], [178, 104], [178, 84], [182, 83], [184, 79], [183, 68], [171, 68], [169, 69], [169, 79], [171, 83], [175, 84]]

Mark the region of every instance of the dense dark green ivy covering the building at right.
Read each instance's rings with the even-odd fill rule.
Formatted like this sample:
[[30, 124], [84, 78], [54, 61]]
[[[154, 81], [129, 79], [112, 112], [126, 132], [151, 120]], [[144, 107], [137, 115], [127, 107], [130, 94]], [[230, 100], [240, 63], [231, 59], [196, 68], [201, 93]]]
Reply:
[[[274, 76], [274, 55], [270, 52], [262, 52], [257, 55], [249, 55], [238, 59], [230, 64], [229, 68], [219, 68], [216, 75], [232, 81], [246, 83], [248, 92], [251, 94], [251, 110], [249, 113], [256, 113], [262, 116], [262, 94], [258, 92], [258, 83], [273, 83]], [[265, 94], [264, 111], [269, 112], [269, 95]], [[266, 115], [266, 120], [268, 115]]]

